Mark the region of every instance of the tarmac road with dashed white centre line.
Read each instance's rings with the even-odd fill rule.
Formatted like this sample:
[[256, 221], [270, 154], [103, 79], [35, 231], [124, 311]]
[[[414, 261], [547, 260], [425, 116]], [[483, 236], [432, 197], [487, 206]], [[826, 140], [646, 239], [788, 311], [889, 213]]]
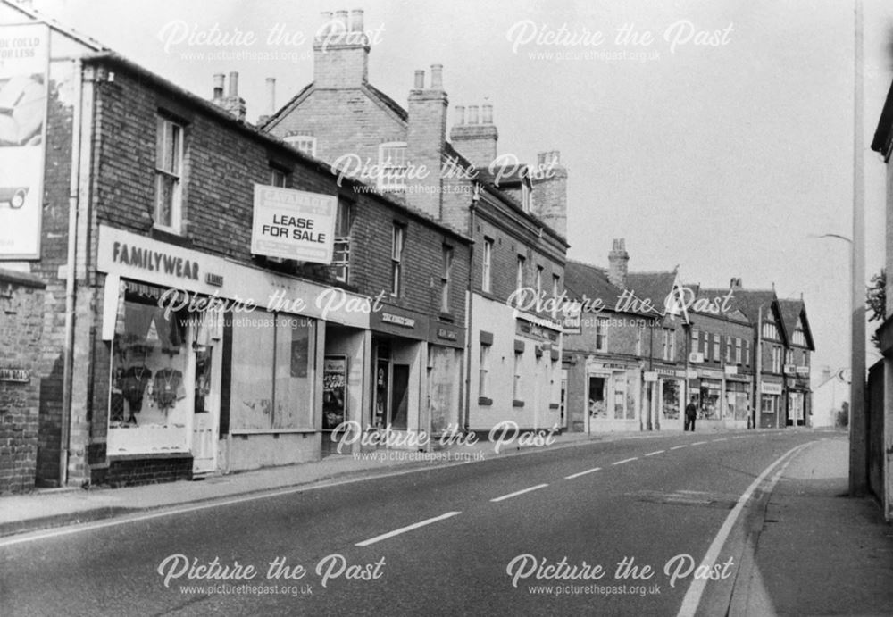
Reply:
[[715, 614], [755, 515], [739, 498], [817, 438], [586, 443], [5, 538], [0, 600], [6, 615]]

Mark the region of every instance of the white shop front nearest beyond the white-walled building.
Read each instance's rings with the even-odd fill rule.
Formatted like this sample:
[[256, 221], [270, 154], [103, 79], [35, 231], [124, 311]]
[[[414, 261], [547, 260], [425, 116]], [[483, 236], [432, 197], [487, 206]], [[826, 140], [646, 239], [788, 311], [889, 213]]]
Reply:
[[638, 364], [586, 361], [587, 431], [638, 430]]

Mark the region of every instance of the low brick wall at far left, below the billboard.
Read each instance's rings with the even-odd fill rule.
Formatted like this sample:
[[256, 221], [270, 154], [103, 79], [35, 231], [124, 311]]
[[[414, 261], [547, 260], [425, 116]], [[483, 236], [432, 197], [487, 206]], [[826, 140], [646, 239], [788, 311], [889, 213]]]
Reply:
[[0, 493], [34, 488], [38, 462], [44, 285], [0, 270], [0, 369], [27, 371], [27, 382], [0, 380]]

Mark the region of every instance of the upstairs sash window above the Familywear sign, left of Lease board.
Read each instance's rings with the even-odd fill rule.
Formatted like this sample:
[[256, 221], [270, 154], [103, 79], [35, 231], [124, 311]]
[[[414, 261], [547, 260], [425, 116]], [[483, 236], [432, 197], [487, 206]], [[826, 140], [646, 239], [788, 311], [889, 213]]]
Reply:
[[158, 115], [155, 131], [154, 226], [179, 234], [183, 198], [183, 127]]

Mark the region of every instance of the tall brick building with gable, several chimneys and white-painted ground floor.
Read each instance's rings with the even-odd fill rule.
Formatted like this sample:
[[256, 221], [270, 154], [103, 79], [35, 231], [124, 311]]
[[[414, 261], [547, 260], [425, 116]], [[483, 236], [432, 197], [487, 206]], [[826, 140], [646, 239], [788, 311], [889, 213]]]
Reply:
[[561, 328], [543, 304], [510, 303], [519, 288], [530, 296], [563, 290], [560, 156], [541, 154], [537, 166], [500, 159], [489, 105], [457, 106], [447, 140], [441, 65], [427, 78], [415, 72], [403, 107], [369, 82], [363, 12], [326, 20], [314, 41], [313, 82], [263, 129], [473, 239], [471, 278], [463, 280], [470, 310], [462, 423], [551, 428], [560, 419]]

